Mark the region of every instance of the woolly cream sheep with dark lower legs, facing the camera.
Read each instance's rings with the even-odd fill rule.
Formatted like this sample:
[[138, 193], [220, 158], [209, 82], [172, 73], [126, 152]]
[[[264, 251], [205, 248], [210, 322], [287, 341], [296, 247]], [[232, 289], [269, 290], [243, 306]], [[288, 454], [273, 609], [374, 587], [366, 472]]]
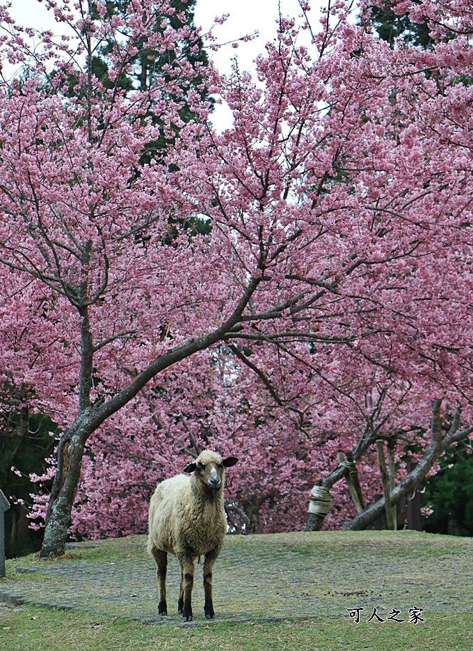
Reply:
[[177, 611], [184, 622], [192, 621], [192, 587], [195, 559], [205, 556], [204, 612], [214, 617], [212, 570], [223, 547], [227, 519], [223, 508], [225, 468], [238, 462], [236, 457], [222, 459], [211, 450], [204, 450], [183, 472], [161, 482], [152, 496], [149, 513], [147, 551], [157, 565], [159, 590], [158, 613], [168, 614], [166, 604], [166, 570], [168, 552], [176, 556], [181, 568], [181, 587]]

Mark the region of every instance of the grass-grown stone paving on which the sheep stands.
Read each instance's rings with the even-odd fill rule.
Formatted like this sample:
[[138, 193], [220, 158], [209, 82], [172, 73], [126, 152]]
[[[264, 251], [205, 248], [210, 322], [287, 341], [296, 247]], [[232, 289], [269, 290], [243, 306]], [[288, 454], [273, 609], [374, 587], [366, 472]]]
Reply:
[[[0, 583], [3, 600], [17, 595], [20, 602], [101, 616], [181, 620], [177, 561], [170, 556], [171, 615], [158, 618], [154, 565], [145, 555], [143, 536], [70, 554], [79, 558], [29, 566], [20, 559], [15, 574]], [[452, 613], [472, 609], [472, 576], [473, 540], [465, 538], [374, 531], [230, 536], [216, 563], [214, 600], [218, 620], [346, 616], [348, 608], [371, 613], [375, 606], [378, 613], [395, 608], [404, 617], [411, 606], [426, 614]], [[203, 619], [201, 583], [198, 566], [195, 620]]]

